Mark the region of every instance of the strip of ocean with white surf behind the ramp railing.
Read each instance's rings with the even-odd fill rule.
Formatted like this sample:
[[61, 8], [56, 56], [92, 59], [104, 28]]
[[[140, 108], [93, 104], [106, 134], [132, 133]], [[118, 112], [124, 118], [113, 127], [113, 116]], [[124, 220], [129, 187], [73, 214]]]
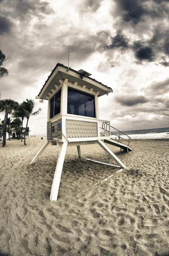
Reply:
[[[115, 134], [119, 134], [114, 132]], [[124, 134], [131, 137], [131, 139], [169, 139], [169, 127], [167, 128], [155, 128], [155, 129], [144, 129], [144, 130], [133, 130], [123, 131]], [[112, 138], [115, 136], [111, 136]], [[127, 137], [120, 134], [120, 137], [126, 139]]]

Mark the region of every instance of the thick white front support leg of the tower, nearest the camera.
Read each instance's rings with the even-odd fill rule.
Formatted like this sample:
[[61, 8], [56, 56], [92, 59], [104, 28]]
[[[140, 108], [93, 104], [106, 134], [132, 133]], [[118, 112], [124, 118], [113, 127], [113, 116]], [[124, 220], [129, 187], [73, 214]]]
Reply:
[[61, 174], [62, 174], [63, 163], [64, 163], [64, 159], [65, 159], [67, 145], [68, 145], [67, 142], [63, 142], [63, 144], [61, 145], [61, 148], [60, 148], [60, 153], [59, 153], [59, 157], [57, 160], [56, 170], [54, 172], [54, 178], [53, 178], [52, 189], [51, 189], [51, 194], [50, 194], [51, 201], [57, 200], [60, 178], [61, 178]]

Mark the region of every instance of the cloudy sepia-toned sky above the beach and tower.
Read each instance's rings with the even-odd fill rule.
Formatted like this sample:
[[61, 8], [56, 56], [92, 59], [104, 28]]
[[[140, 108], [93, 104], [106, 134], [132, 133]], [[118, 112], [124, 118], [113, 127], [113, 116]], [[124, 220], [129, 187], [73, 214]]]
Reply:
[[121, 131], [169, 127], [168, 0], [0, 0], [0, 49], [1, 99], [42, 108], [30, 134], [46, 134], [47, 101], [35, 96], [68, 52], [69, 67], [114, 91], [99, 98], [100, 119]]

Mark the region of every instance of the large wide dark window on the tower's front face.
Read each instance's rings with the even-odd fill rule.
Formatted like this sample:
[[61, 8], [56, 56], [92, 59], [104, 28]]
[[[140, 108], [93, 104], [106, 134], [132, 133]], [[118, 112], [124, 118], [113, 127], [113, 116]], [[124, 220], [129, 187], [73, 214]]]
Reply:
[[68, 87], [67, 113], [78, 116], [96, 117], [95, 96]]

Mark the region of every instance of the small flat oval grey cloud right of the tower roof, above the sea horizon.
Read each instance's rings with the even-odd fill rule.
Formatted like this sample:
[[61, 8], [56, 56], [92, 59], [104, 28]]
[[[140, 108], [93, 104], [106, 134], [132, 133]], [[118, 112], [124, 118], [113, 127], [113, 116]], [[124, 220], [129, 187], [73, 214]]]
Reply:
[[120, 105], [123, 106], [134, 106], [134, 105], [138, 105], [138, 104], [143, 104], [148, 102], [148, 99], [146, 99], [145, 96], [136, 96], [136, 95], [123, 95], [123, 97], [120, 96], [116, 96], [115, 97], [115, 101], [117, 103], [120, 103]]

